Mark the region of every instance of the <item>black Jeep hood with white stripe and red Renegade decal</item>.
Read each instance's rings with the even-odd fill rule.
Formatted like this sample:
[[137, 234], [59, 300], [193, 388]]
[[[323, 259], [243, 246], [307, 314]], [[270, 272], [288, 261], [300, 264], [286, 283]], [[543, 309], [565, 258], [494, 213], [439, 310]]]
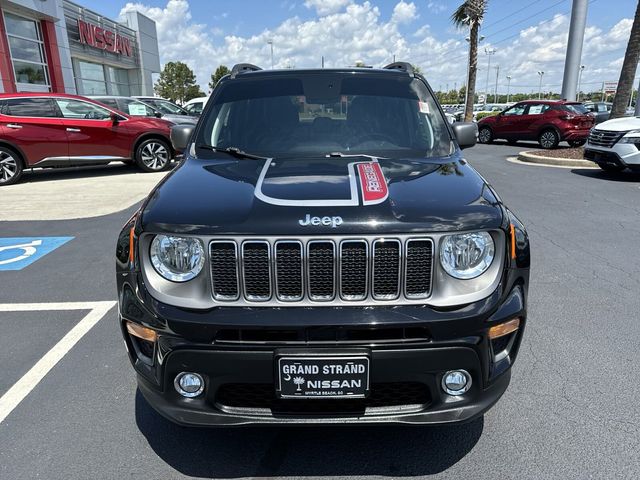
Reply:
[[499, 198], [460, 157], [188, 157], [150, 194], [144, 231], [331, 235], [498, 228]]

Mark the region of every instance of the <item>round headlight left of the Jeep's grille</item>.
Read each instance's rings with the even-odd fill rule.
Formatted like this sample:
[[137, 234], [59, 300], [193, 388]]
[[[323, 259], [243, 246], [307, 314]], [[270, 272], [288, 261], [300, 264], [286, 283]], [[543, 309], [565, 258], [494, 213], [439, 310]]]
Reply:
[[173, 282], [195, 278], [204, 265], [204, 248], [197, 238], [157, 235], [151, 242], [151, 263]]

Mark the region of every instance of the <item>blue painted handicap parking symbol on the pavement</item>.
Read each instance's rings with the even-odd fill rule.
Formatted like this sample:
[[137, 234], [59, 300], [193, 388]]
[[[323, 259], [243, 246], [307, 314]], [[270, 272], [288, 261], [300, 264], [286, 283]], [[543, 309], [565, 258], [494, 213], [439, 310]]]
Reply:
[[74, 237], [0, 238], [0, 271], [22, 270]]

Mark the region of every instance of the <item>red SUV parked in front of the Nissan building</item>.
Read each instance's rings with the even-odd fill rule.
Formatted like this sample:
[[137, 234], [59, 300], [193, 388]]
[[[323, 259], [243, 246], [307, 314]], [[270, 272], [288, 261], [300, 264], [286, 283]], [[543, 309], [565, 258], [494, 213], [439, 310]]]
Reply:
[[136, 164], [166, 169], [173, 157], [171, 123], [133, 117], [77, 95], [0, 95], [0, 186], [25, 168]]

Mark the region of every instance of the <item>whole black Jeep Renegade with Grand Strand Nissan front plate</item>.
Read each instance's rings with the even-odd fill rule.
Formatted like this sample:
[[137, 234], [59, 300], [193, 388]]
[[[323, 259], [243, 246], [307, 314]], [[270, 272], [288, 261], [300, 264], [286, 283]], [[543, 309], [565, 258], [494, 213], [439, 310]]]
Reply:
[[509, 384], [523, 225], [423, 77], [241, 64], [124, 226], [119, 321], [183, 425], [462, 422]]

